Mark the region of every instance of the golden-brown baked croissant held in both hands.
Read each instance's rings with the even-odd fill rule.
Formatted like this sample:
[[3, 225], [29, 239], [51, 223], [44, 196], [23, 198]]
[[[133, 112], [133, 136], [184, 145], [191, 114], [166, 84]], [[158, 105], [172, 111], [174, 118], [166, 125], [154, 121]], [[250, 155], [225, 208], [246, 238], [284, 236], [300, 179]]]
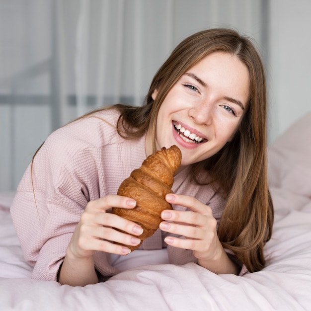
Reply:
[[174, 174], [181, 162], [181, 152], [175, 145], [148, 156], [142, 166], [131, 172], [120, 185], [117, 194], [136, 200], [134, 209], [112, 208], [112, 213], [139, 224], [144, 232], [138, 237], [141, 243], [136, 246], [126, 245], [131, 250], [137, 249], [147, 237], [152, 236], [159, 227], [160, 214], [172, 209], [165, 201], [165, 195], [172, 193]]

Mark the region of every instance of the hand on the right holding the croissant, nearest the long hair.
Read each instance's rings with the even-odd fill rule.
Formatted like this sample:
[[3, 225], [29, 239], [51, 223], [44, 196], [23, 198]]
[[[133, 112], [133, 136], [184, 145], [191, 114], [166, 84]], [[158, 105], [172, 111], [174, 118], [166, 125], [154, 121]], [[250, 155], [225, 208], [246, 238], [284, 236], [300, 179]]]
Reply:
[[184, 238], [167, 236], [165, 242], [174, 247], [191, 249], [199, 260], [217, 260], [223, 247], [217, 235], [217, 221], [212, 209], [194, 197], [168, 194], [166, 201], [190, 209], [190, 211], [165, 210], [160, 229], [168, 233], [182, 235]]

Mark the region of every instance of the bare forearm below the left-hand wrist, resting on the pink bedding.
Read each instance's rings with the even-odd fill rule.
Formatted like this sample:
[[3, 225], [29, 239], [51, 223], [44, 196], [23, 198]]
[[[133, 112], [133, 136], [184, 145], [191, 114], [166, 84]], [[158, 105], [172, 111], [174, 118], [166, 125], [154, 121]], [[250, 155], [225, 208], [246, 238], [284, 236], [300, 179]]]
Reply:
[[71, 286], [98, 283], [93, 256], [77, 259], [67, 254], [58, 273], [58, 282]]

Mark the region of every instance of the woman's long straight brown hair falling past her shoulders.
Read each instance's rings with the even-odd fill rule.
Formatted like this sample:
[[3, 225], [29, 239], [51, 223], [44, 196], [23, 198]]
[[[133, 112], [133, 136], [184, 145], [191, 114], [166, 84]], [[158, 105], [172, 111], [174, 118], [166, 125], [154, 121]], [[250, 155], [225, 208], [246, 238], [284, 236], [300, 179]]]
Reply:
[[267, 182], [265, 73], [252, 42], [226, 28], [195, 33], [183, 40], [159, 68], [142, 106], [113, 107], [121, 113], [117, 129], [122, 137], [140, 137], [151, 129], [155, 142], [158, 110], [171, 87], [202, 58], [219, 51], [236, 56], [247, 67], [249, 102], [233, 140], [216, 155], [192, 164], [192, 178], [199, 184], [207, 183], [197, 178], [205, 170], [220, 185], [226, 205], [219, 239], [253, 272], [265, 266], [263, 247], [272, 234], [273, 205]]

